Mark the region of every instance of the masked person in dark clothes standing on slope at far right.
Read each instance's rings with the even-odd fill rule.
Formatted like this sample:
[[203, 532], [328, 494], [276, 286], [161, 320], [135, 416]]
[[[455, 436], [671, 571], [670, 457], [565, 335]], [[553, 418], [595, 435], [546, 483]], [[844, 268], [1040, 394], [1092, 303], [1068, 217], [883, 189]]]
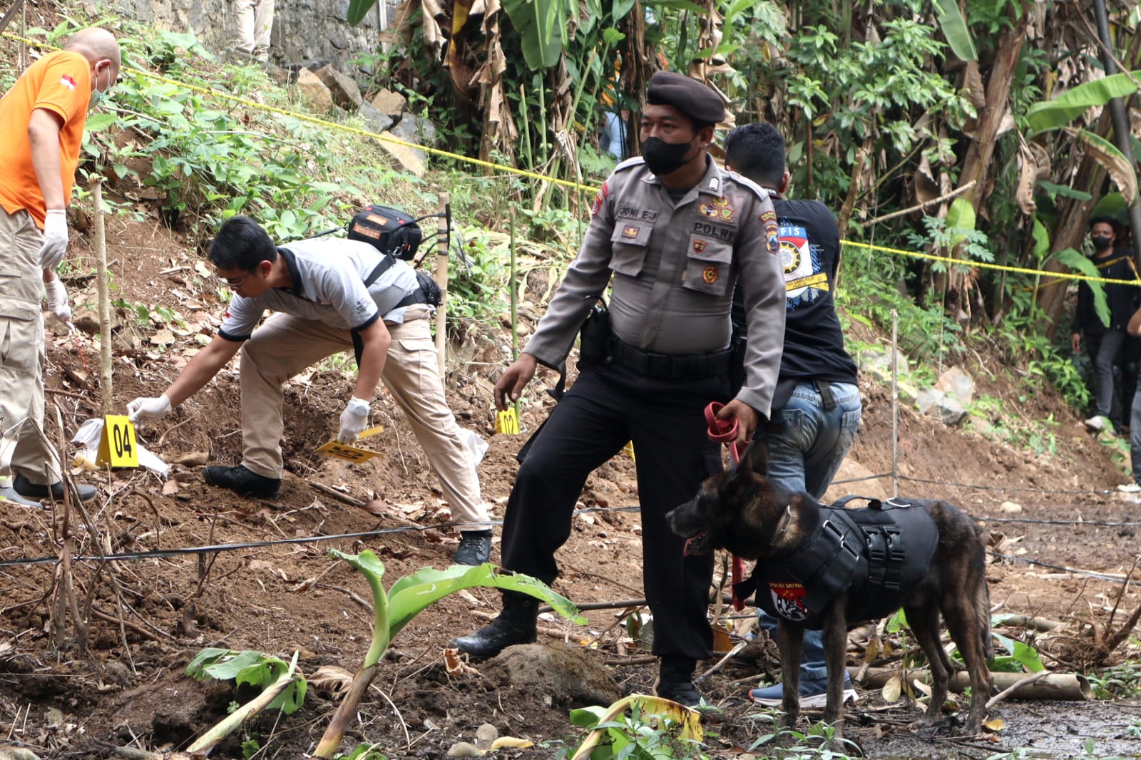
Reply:
[[[1093, 264], [1100, 276], [1107, 280], [1135, 280], [1128, 252], [1114, 250], [1116, 233], [1114, 220], [1108, 217], [1095, 217], [1090, 220], [1090, 242], [1093, 243]], [[1094, 413], [1085, 420], [1085, 427], [1093, 432], [1112, 429], [1115, 421], [1115, 366], [1118, 362], [1122, 345], [1125, 342], [1125, 326], [1133, 313], [1135, 288], [1106, 283], [1106, 300], [1109, 306], [1109, 324], [1102, 323], [1094, 309], [1093, 291], [1085, 282], [1078, 283], [1077, 309], [1074, 313], [1074, 326], [1070, 334], [1070, 348], [1075, 354], [1082, 350], [1082, 335], [1085, 334], [1085, 349], [1093, 362], [1094, 375]], [[1120, 426], [1120, 418], [1116, 425]]]

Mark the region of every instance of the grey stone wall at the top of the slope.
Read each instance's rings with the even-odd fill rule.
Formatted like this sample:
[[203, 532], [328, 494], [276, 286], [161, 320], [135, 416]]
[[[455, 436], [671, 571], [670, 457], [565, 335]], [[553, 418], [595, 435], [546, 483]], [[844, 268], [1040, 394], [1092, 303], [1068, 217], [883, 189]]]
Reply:
[[[115, 7], [141, 22], [176, 31], [194, 30], [208, 49], [230, 47], [233, 0], [115, 0]], [[372, 73], [351, 65], [357, 52], [379, 47], [380, 14], [393, 17], [393, 8], [379, 0], [357, 26], [346, 19], [349, 0], [277, 0], [269, 55], [286, 65], [302, 60], [327, 60], [356, 79]]]

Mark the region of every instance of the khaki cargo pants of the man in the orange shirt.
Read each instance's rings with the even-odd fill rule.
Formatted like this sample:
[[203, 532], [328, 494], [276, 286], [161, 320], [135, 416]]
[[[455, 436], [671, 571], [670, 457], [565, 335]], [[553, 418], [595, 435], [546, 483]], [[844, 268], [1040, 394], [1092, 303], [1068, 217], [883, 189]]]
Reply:
[[0, 477], [57, 483], [58, 452], [43, 429], [43, 233], [27, 211], [0, 208]]

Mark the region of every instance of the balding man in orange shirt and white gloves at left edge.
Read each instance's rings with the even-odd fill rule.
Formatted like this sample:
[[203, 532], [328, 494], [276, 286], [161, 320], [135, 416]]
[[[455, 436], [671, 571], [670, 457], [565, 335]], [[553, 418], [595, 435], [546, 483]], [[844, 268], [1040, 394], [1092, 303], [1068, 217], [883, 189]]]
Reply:
[[[56, 277], [67, 253], [66, 207], [87, 112], [120, 64], [111, 32], [80, 30], [0, 98], [0, 501], [39, 507], [34, 500], [63, 498], [58, 455], [42, 432], [40, 301], [47, 289], [51, 313], [71, 320]], [[82, 499], [95, 494], [80, 486]]]

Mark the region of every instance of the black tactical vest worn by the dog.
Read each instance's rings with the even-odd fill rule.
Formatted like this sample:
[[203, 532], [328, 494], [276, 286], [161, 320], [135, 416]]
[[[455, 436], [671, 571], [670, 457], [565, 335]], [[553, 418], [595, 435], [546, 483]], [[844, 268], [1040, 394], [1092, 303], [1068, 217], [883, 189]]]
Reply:
[[776, 617], [824, 628], [820, 612], [848, 591], [848, 620], [875, 620], [899, 608], [900, 598], [926, 576], [939, 541], [934, 520], [921, 504], [869, 499], [844, 509], [845, 496], [820, 506], [817, 525], [787, 561], [759, 561], [734, 591], [756, 592], [756, 606]]

